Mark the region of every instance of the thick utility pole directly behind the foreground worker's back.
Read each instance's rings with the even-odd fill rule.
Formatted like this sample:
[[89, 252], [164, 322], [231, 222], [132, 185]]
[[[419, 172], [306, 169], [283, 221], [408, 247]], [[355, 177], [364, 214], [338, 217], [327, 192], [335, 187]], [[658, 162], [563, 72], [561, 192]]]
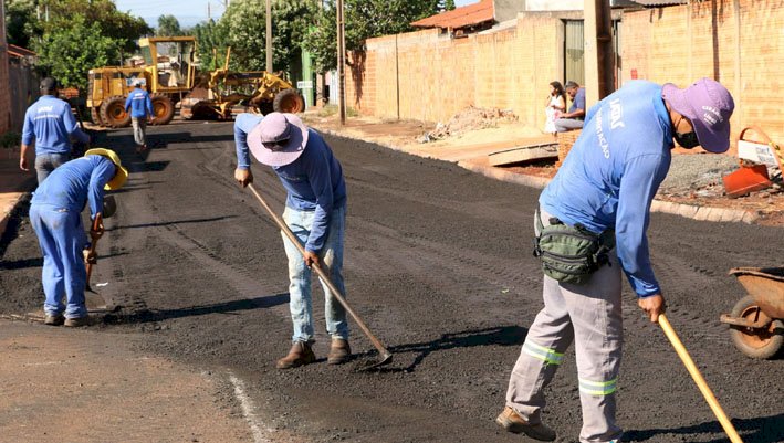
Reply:
[[609, 0], [585, 0], [585, 93], [590, 107], [615, 89]]

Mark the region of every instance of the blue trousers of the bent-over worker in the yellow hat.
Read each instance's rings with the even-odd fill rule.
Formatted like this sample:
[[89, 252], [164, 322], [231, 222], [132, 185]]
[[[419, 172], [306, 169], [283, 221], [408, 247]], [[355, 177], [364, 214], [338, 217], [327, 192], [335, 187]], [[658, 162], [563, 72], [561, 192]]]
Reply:
[[[56, 316], [65, 312], [66, 318], [86, 316], [84, 287], [87, 272], [82, 250], [87, 243], [87, 236], [82, 228], [80, 212], [49, 204], [32, 204], [30, 224], [35, 230], [43, 254], [42, 283], [46, 296], [44, 313]], [[63, 305], [63, 297], [67, 305]]]

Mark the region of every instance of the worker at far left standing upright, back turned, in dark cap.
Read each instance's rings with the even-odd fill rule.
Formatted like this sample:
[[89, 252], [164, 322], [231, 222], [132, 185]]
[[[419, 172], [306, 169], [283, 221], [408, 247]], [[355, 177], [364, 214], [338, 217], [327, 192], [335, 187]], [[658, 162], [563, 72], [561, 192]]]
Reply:
[[58, 82], [52, 77], [41, 81], [41, 98], [24, 113], [19, 168], [29, 171], [27, 152], [35, 141], [35, 172], [41, 184], [54, 168], [71, 159], [71, 137], [88, 145], [71, 113], [71, 105], [58, 98]]

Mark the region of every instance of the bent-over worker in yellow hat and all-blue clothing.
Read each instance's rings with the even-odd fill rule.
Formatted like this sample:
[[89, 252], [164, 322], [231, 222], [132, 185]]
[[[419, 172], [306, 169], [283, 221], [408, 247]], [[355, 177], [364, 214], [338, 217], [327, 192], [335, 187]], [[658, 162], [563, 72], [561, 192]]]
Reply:
[[[87, 238], [82, 210], [90, 202], [90, 218], [97, 223], [91, 235], [103, 234], [104, 190], [121, 188], [128, 177], [119, 157], [109, 149], [90, 149], [84, 157], [59, 167], [41, 183], [30, 205], [30, 223], [43, 254], [43, 304], [46, 325], [71, 327], [88, 324], [84, 299], [86, 270], [83, 250]], [[63, 298], [66, 304], [63, 305]]]

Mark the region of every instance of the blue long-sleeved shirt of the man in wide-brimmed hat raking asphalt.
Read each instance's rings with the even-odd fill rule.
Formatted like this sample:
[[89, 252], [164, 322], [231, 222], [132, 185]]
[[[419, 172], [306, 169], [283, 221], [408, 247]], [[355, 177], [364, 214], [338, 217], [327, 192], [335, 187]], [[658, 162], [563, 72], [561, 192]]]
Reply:
[[[234, 120], [237, 167], [250, 169], [248, 134], [262, 120], [255, 114], [240, 114]], [[307, 145], [293, 162], [272, 167], [286, 190], [286, 207], [297, 211], [315, 211], [305, 250], [317, 253], [324, 246], [334, 209], [346, 204], [346, 181], [343, 168], [313, 129], [307, 129]]]

